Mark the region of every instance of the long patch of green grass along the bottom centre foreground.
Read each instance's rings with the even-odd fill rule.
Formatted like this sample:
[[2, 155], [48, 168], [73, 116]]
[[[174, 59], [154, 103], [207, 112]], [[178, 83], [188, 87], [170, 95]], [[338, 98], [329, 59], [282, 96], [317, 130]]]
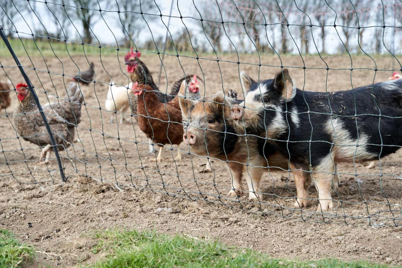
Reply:
[[91, 267], [386, 267], [366, 261], [343, 262], [271, 258], [251, 249], [211, 240], [152, 231], [108, 230], [93, 235], [93, 253], [107, 252]]

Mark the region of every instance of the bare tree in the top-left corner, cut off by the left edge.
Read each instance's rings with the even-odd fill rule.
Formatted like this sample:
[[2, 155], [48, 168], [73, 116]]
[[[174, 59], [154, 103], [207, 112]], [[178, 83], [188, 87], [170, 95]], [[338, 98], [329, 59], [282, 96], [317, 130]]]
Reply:
[[[14, 31], [13, 22], [15, 22], [18, 16], [18, 10], [22, 13], [27, 2], [20, 0], [0, 0], [0, 23], [3, 29], [11, 30], [6, 31], [7, 37], [12, 37], [12, 31]], [[4, 12], [4, 13], [3, 13]]]

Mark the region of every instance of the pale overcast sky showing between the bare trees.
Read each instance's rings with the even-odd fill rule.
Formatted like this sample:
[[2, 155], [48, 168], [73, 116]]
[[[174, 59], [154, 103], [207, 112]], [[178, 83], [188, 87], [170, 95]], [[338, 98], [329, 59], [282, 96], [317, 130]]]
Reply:
[[[13, 1], [23, 1], [24, 4], [28, 4], [28, 2], [26, 0], [13, 0]], [[118, 0], [118, 1], [121, 2], [121, 1], [125, 1], [125, 0]], [[127, 1], [129, 1], [129, 0], [127, 0]], [[139, 0], [134, 0], [134, 1], [139, 1]], [[381, 3], [380, 0], [374, 0], [374, 1]], [[113, 2], [113, 0], [111, 2]], [[220, 5], [221, 9], [228, 8], [227, 4], [232, 3], [230, 0], [227, 0], [227, 1], [221, 0], [218, 2], [224, 3], [223, 5], [222, 4]], [[241, 3], [242, 3], [242, 1], [235, 1], [235, 2], [239, 5], [241, 5]], [[390, 5], [390, 4], [394, 4], [395, 1], [394, 0], [384, 0], [383, 2], [384, 2], [384, 5], [387, 5], [387, 4]], [[40, 34], [39, 31], [43, 31], [43, 26], [45, 27], [45, 29], [48, 32], [50, 32], [50, 33], [54, 32], [55, 25], [51, 22], [51, 20], [49, 18], [49, 14], [46, 12], [47, 7], [46, 7], [45, 3], [42, 1], [32, 1], [32, 0], [30, 1], [30, 3], [34, 7], [35, 13], [39, 17], [39, 19], [37, 18], [37, 16], [35, 16], [34, 12], [25, 12], [24, 18], [19, 16], [18, 19], [14, 19], [14, 25], [15, 25], [17, 31], [20, 32], [20, 36], [21, 37], [30, 37], [29, 35], [24, 35], [21, 32], [31, 34], [31, 31], [33, 31], [34, 34], [39, 35]], [[182, 22], [182, 20], [180, 18], [178, 18], [180, 16], [178, 6], [180, 7], [180, 12], [181, 12], [182, 16], [184, 16], [184, 17], [190, 16], [190, 17], [199, 19], [200, 17], [199, 17], [199, 14], [198, 14], [195, 6], [197, 6], [197, 8], [200, 10], [200, 12], [203, 16], [207, 16], [207, 15], [214, 14], [214, 12], [215, 13], [219, 12], [217, 9], [216, 2], [214, 0], [195, 0], [194, 3], [195, 4], [193, 4], [192, 1], [187, 1], [187, 0], [178, 0], [178, 1], [174, 0], [169, 30], [172, 33], [173, 37], [176, 37], [178, 35], [178, 33], [181, 33], [183, 31], [184, 24], [185, 24], [187, 29], [189, 29], [189, 31], [191, 33], [194, 33], [195, 36], [197, 36], [197, 40], [199, 42], [204, 43], [205, 45], [209, 46], [209, 43], [208, 43], [205, 35], [203, 34], [203, 30], [201, 28], [201, 22], [199, 20], [195, 20], [192, 18], [184, 18], [183, 22]], [[210, 5], [211, 14], [203, 14], [203, 11], [200, 9], [200, 7], [205, 5], [205, 3]], [[336, 4], [336, 3], [337, 3], [337, 0], [332, 1], [332, 8], [334, 8], [336, 10], [338, 15], [340, 14], [340, 12], [347, 11], [347, 7], [340, 6], [339, 4]], [[169, 20], [168, 15], [170, 12], [171, 1], [170, 0], [156, 0], [156, 4], [160, 8], [160, 10], [164, 16], [162, 16], [162, 17], [156, 16], [156, 18], [155, 18], [155, 16], [144, 15], [144, 19], [147, 22], [149, 22], [148, 25], [149, 25], [150, 29], [148, 29], [147, 25], [144, 24], [144, 20], [141, 18], [142, 23], [143, 23], [143, 25], [142, 25], [143, 30], [139, 35], [139, 38], [138, 38], [139, 40], [142, 40], [142, 41], [149, 40], [152, 37], [152, 35], [153, 35], [154, 39], [157, 39], [158, 37], [162, 37], [166, 34], [166, 27], [164, 26], [163, 23], [168, 25], [168, 20]], [[49, 4], [49, 5], [51, 5], [51, 4]], [[53, 6], [61, 8], [60, 6], [57, 6], [54, 4], [53, 4]], [[353, 7], [351, 6], [349, 9], [352, 9], [352, 8]], [[400, 8], [400, 6], [399, 6], [399, 8]], [[71, 8], [71, 7], [70, 7], [70, 9], [74, 10], [74, 8]], [[116, 10], [116, 8], [109, 7], [109, 10], [113, 11], [113, 10]], [[208, 11], [208, 9], [207, 9], [207, 11]], [[228, 11], [228, 10], [223, 10], [223, 11]], [[243, 11], [243, 12], [246, 12], [246, 11]], [[263, 12], [265, 12], [265, 10], [263, 10]], [[293, 24], [300, 23], [298, 21], [298, 18], [301, 13], [299, 11], [297, 11], [297, 12], [299, 14], [293, 14], [293, 17], [294, 17]], [[311, 14], [312, 12], [314, 12], [314, 10], [309, 9], [307, 13]], [[365, 12], [377, 12], [377, 13], [379, 13], [378, 16], [380, 16], [380, 15], [382, 16], [382, 14], [380, 14], [381, 10], [367, 10]], [[156, 10], [155, 13], [158, 14], [159, 13], [158, 10]], [[224, 12], [222, 12], [222, 13], [224, 13]], [[331, 11], [331, 13], [328, 13], [328, 14], [329, 14], [328, 16], [335, 16], [332, 11]], [[385, 14], [385, 15], [386, 15], [386, 19], [388, 19], [388, 25], [389, 25], [390, 23], [392, 23], [392, 20], [390, 20], [387, 17], [387, 14]], [[138, 15], [138, 16], [140, 16], [140, 15]], [[151, 20], [151, 17], [154, 17], [154, 20]], [[397, 18], [397, 21], [395, 22], [395, 24], [397, 24], [398, 26], [401, 24], [400, 18], [401, 18], [401, 14], [398, 13], [398, 18]], [[224, 18], [224, 20], [225, 20], [225, 18]], [[162, 21], [163, 21], [163, 23], [162, 23]], [[264, 23], [264, 22], [261, 21], [260, 23]], [[271, 22], [271, 23], [276, 23], [276, 22]], [[361, 23], [363, 24], [362, 26], [375, 25], [375, 22], [373, 22], [373, 21], [363, 21]], [[43, 26], [41, 24], [43, 24]], [[77, 21], [74, 21], [74, 25], [76, 26], [78, 32], [82, 33], [82, 26], [80, 25], [80, 23]], [[204, 23], [204, 25], [206, 25], [206, 24]], [[233, 30], [235, 26], [237, 28], [236, 28], [236, 30]], [[277, 43], [279, 43], [280, 40], [282, 39], [281, 33], [279, 31], [280, 26], [273, 25], [273, 26], [269, 26], [269, 27], [272, 27], [272, 29], [274, 29], [271, 34], [272, 34], [273, 38], [275, 38], [277, 40]], [[96, 24], [92, 28], [92, 31], [94, 32], [94, 35], [96, 36], [96, 38], [102, 44], [104, 44], [104, 45], [107, 44], [107, 45], [111, 45], [111, 46], [115, 47], [116, 46], [115, 38], [118, 41], [120, 41], [124, 37], [120, 28], [121, 28], [121, 25], [119, 25], [119, 18], [118, 18], [118, 14], [116, 11], [115, 12], [103, 12], [103, 19], [98, 18]], [[225, 30], [226, 30], [226, 34], [228, 36], [226, 36], [226, 34], [224, 32], [222, 32], [222, 41], [221, 41], [222, 50], [233, 49], [233, 45], [230, 42], [230, 41], [233, 41], [235, 44], [240, 43], [240, 42], [243, 43], [244, 47], [246, 47], [247, 50], [252, 51], [252, 49], [253, 49], [252, 43], [250, 42], [250, 40], [248, 39], [248, 37], [246, 35], [244, 35], [243, 37], [240, 37], [238, 29], [239, 29], [238, 25], [236, 25], [234, 23], [226, 23], [225, 24]], [[326, 27], [326, 30], [327, 30], [326, 52], [329, 54], [338, 52], [339, 47], [342, 46], [340, 38], [342, 38], [343, 41], [345, 41], [342, 31], [340, 31], [340, 28], [338, 28], [338, 29], [339, 29], [339, 31], [337, 33], [333, 27], [330, 27], [330, 26]], [[368, 29], [365, 29], [365, 31], [364, 31], [363, 44], [365, 45], [364, 48], [367, 52], [369, 52], [371, 47], [373, 46], [373, 35], [375, 34], [375, 29], [376, 28], [368, 28]], [[69, 39], [80, 40], [78, 38], [79, 36], [78, 36], [77, 30], [74, 29], [74, 27], [72, 27], [72, 25], [70, 25]], [[291, 52], [292, 53], [297, 53], [297, 47], [301, 43], [301, 37], [299, 36], [299, 30], [300, 30], [299, 26], [290, 26], [289, 31], [291, 33], [291, 36], [289, 35], [289, 33], [287, 33], [287, 36], [285, 37], [291, 43]], [[241, 31], [241, 29], [240, 29], [240, 31]], [[399, 31], [399, 32], [401, 32], [401, 31]], [[151, 35], [151, 33], [152, 33], [152, 35]], [[320, 33], [320, 28], [313, 27], [313, 35], [316, 40], [318, 40], [320, 38], [319, 33]], [[352, 37], [350, 40], [352, 46], [355, 46], [355, 47], [358, 46], [357, 33], [358, 33], [358, 31], [356, 29], [354, 31], [355, 36]], [[384, 42], [386, 43], [386, 45], [388, 45], [389, 48], [392, 47], [391, 40], [392, 40], [393, 33], [394, 33], [393, 28], [387, 27], [385, 29]], [[338, 37], [338, 34], [340, 35], [340, 37]], [[295, 42], [297, 43], [297, 46], [293, 44], [294, 41], [293, 41], [292, 37], [295, 40]], [[394, 39], [394, 46], [396, 47], [397, 53], [401, 53], [400, 42], [401, 42], [401, 37], [399, 34]], [[94, 39], [93, 43], [95, 45], [97, 45], [96, 39]], [[317, 41], [317, 43], [318, 43], [317, 45], [319, 47], [321, 43], [318, 41]], [[383, 50], [386, 52], [385, 48]], [[311, 52], [316, 51], [316, 48], [314, 47], [314, 43], [312, 41], [310, 41], [310, 51]]]

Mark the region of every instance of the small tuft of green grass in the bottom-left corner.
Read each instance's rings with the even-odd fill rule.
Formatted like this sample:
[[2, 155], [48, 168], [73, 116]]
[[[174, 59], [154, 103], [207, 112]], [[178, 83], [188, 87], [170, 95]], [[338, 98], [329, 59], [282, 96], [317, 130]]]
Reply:
[[20, 243], [15, 235], [0, 229], [0, 267], [18, 267], [32, 261], [33, 247]]

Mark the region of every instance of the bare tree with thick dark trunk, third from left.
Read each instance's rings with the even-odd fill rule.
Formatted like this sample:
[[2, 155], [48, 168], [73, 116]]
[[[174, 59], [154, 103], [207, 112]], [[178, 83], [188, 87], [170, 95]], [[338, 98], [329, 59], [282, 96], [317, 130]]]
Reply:
[[[77, 6], [75, 8], [74, 16], [82, 24], [82, 29], [84, 30], [84, 42], [92, 43], [92, 33], [96, 21], [99, 19], [100, 12], [99, 9], [105, 9], [108, 6], [108, 2], [105, 0], [70, 0], [72, 5]], [[101, 6], [104, 4], [104, 6]]]

